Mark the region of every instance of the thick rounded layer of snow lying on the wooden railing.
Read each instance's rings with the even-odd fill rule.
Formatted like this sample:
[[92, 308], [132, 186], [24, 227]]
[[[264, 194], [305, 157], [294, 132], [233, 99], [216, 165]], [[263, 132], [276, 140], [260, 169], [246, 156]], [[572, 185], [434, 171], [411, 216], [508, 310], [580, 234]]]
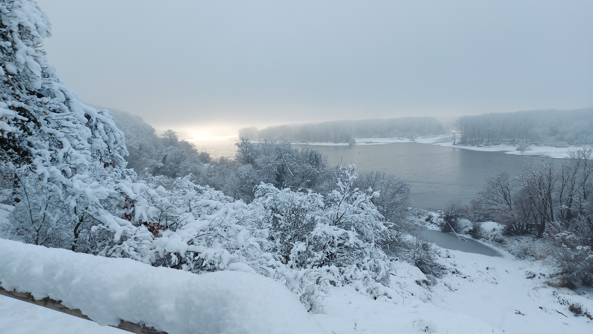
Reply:
[[0, 238], [0, 285], [28, 292], [12, 297], [61, 301], [100, 325], [123, 320], [168, 334], [324, 332], [296, 295], [256, 273], [197, 275]]

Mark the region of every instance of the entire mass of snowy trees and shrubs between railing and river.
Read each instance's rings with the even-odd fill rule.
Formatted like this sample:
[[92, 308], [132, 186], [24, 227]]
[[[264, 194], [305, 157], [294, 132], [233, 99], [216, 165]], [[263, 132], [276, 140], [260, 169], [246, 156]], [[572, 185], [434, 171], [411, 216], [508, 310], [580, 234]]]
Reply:
[[286, 141], [242, 139], [234, 159], [213, 160], [138, 117], [114, 122], [47, 63], [37, 4], [0, 7], [0, 237], [194, 273], [257, 272], [310, 310], [330, 286], [395, 296], [386, 252], [433, 263], [431, 246], [404, 236], [404, 180], [328, 166]]

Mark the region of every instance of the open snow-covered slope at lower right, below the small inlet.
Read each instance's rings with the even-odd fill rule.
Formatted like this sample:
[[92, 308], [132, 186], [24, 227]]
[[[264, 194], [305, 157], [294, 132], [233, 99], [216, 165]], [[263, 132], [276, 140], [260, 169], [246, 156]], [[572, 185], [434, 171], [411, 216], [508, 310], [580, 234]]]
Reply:
[[[549, 285], [550, 268], [543, 263], [499, 252], [505, 256], [441, 250], [448, 274], [430, 289], [415, 284], [418, 273], [400, 262], [401, 274], [391, 279], [392, 288], [400, 290], [397, 304], [336, 288], [323, 299], [325, 314], [315, 318], [334, 333], [417, 333], [426, 326], [434, 333], [591, 332], [591, 320], [573, 316], [559, 302], [564, 298], [593, 310], [592, 300]], [[537, 274], [526, 278], [526, 272]]]

